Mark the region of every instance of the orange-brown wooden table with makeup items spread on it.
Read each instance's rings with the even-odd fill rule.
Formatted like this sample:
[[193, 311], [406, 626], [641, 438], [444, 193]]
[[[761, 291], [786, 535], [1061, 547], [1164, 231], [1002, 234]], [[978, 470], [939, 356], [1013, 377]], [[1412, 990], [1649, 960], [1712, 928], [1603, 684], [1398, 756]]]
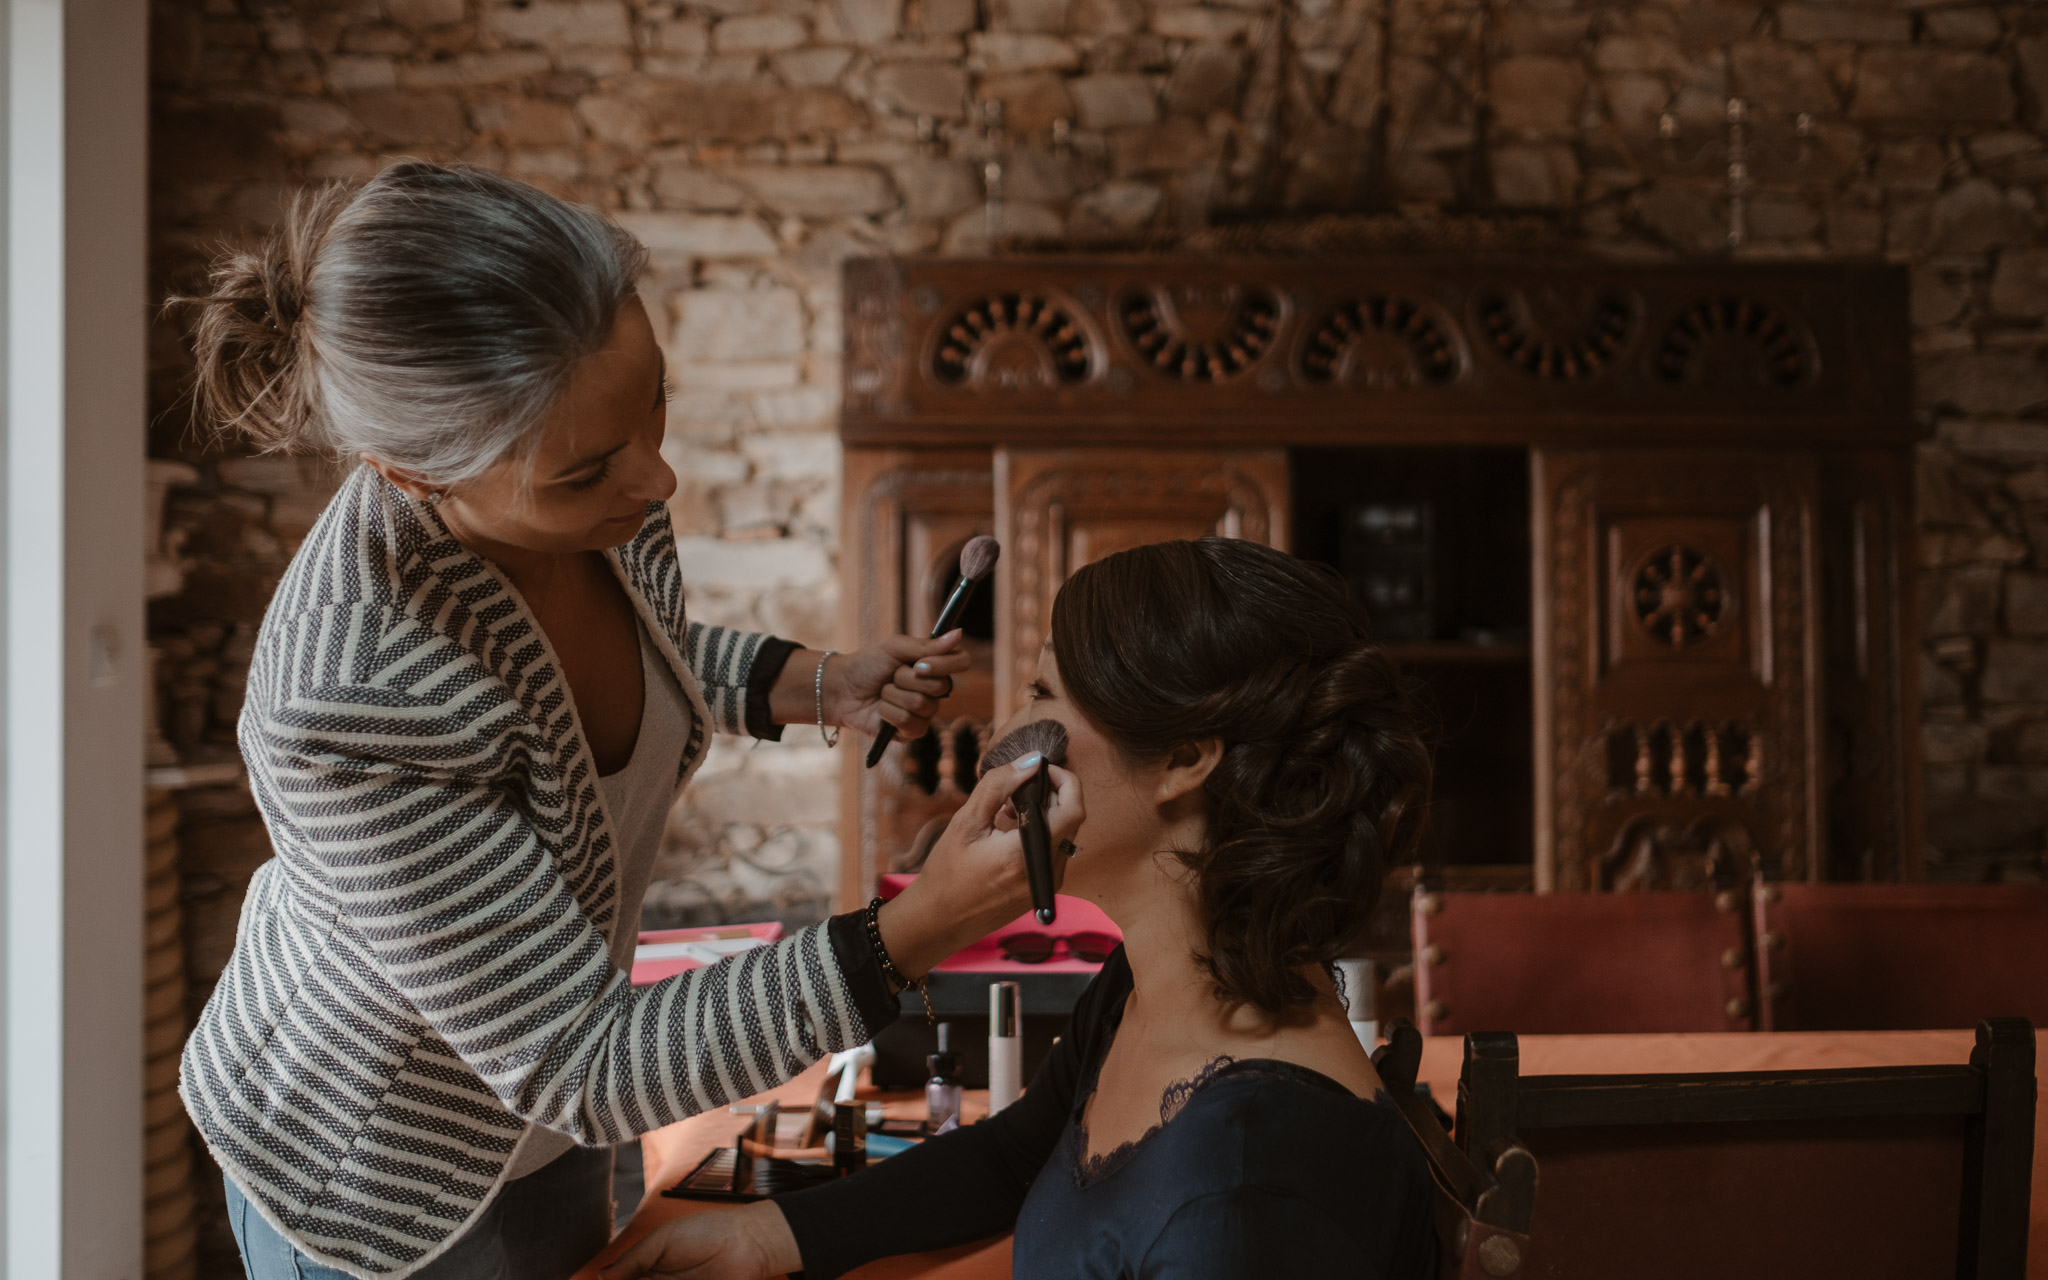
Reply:
[[[1907, 1067], [1915, 1063], [1966, 1063], [1976, 1044], [1968, 1030], [1915, 1032], [1720, 1032], [1655, 1036], [1522, 1036], [1524, 1075], [1577, 1075], [1628, 1071], [1812, 1071], [1825, 1067]], [[1462, 1036], [1434, 1036], [1423, 1044], [1421, 1079], [1444, 1110], [1454, 1108], [1458, 1069], [1464, 1061]], [[823, 1079], [823, 1065], [766, 1094], [791, 1106], [809, 1106]], [[924, 1100], [907, 1094], [887, 1098], [891, 1114], [922, 1116]], [[979, 1118], [987, 1096], [969, 1094], [967, 1118]], [[713, 1147], [723, 1147], [748, 1124], [748, 1116], [715, 1112], [670, 1124], [641, 1139], [647, 1163], [647, 1198], [639, 1212], [598, 1260], [578, 1272], [596, 1280], [596, 1264], [610, 1262], [655, 1223], [715, 1208], [702, 1200], [668, 1200], [659, 1188], [672, 1186]], [[1536, 1196], [1542, 1214], [1542, 1192]], [[854, 1272], [856, 1276], [944, 1280], [1008, 1280], [1010, 1237], [963, 1245], [938, 1253], [891, 1257]], [[2048, 1100], [2034, 1110], [2034, 1212], [2028, 1233], [2028, 1276], [2048, 1280]]]

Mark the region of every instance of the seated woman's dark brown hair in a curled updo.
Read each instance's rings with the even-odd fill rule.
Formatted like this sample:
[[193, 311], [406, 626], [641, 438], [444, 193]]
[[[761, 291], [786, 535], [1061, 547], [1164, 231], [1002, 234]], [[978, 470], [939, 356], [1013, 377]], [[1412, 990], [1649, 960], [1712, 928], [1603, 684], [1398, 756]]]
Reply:
[[1223, 739], [1194, 872], [1200, 963], [1227, 1001], [1290, 1014], [1309, 965], [1362, 942], [1430, 807], [1407, 684], [1335, 569], [1239, 539], [1104, 557], [1053, 600], [1067, 696], [1130, 760]]

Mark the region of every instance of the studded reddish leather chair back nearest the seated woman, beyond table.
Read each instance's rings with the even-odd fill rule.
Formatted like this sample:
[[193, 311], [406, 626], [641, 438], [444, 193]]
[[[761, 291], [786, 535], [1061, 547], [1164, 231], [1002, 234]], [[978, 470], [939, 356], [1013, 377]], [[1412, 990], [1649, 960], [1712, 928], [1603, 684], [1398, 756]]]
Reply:
[[1423, 1034], [1751, 1030], [1733, 893], [1413, 897]]

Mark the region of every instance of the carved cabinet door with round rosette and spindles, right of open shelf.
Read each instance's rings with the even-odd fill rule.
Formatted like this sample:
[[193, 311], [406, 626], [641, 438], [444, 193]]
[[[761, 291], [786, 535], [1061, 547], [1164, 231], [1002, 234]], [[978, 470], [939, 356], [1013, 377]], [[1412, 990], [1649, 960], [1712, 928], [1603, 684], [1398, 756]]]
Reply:
[[1536, 877], [1817, 874], [1819, 467], [1536, 451]]

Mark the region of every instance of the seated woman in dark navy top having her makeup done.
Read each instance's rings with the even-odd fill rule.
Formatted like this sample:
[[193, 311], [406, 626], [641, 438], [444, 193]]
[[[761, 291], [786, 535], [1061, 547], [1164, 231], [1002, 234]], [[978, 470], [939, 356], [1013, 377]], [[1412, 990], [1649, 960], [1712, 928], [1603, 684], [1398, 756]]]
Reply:
[[1063, 893], [1124, 944], [1001, 1114], [659, 1227], [606, 1280], [840, 1276], [1016, 1231], [1014, 1274], [1421, 1278], [1430, 1174], [1346, 1020], [1430, 752], [1333, 571], [1229, 539], [1075, 573], [1016, 723], [1069, 731]]

